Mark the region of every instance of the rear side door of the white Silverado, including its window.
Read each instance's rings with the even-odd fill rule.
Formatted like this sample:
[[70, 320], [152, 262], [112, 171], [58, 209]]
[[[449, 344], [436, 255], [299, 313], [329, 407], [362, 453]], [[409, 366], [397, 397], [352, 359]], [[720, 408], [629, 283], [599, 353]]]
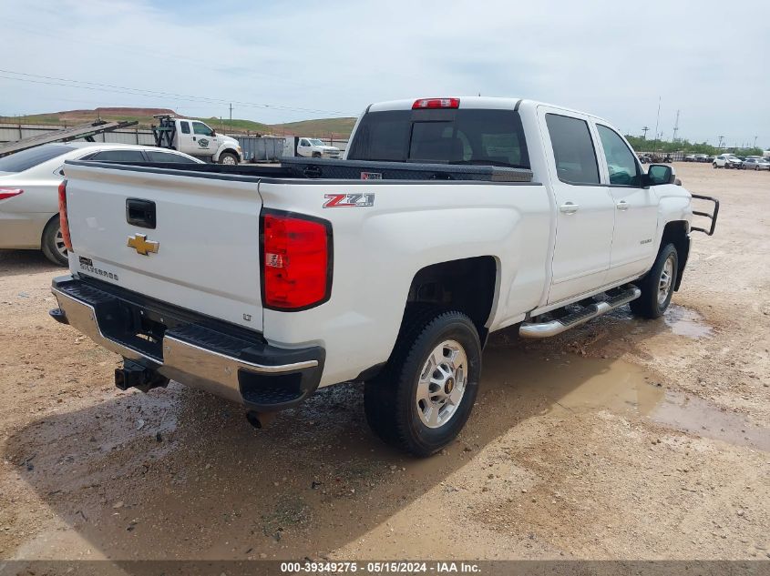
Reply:
[[601, 184], [588, 117], [547, 106], [538, 116], [556, 199], [551, 304], [605, 284], [615, 204]]

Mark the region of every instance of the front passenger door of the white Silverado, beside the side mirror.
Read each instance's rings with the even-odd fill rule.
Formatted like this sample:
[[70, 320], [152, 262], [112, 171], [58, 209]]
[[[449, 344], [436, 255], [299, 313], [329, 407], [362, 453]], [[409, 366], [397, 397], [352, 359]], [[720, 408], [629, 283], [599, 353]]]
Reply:
[[658, 197], [642, 187], [642, 167], [631, 147], [610, 126], [596, 124], [604, 176], [615, 204], [610, 272], [607, 282], [639, 276], [652, 265], [658, 227]]

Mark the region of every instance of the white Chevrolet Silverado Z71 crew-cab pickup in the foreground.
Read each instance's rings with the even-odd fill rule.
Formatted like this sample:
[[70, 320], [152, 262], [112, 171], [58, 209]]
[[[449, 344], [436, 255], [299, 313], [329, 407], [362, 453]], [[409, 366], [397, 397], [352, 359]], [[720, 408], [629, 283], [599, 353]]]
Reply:
[[375, 432], [423, 456], [465, 424], [489, 332], [661, 316], [718, 210], [693, 227], [673, 168], [601, 118], [488, 97], [369, 106], [343, 160], [65, 173], [51, 314], [124, 357], [119, 388], [175, 379], [260, 426], [363, 380]]

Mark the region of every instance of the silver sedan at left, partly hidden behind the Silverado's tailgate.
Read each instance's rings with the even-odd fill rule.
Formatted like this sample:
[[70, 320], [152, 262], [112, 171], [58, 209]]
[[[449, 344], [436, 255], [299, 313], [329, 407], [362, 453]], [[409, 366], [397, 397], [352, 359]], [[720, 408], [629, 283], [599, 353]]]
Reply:
[[203, 164], [176, 150], [130, 144], [44, 144], [0, 158], [0, 248], [43, 250], [67, 266], [59, 225], [58, 187], [65, 160]]

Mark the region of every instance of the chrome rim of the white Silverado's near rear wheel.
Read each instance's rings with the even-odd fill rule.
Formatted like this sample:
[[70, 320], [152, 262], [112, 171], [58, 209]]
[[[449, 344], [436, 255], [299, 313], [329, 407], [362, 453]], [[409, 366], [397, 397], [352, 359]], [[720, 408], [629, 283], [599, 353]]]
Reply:
[[456, 340], [428, 355], [417, 382], [417, 414], [428, 428], [440, 428], [457, 412], [467, 386], [467, 356]]

